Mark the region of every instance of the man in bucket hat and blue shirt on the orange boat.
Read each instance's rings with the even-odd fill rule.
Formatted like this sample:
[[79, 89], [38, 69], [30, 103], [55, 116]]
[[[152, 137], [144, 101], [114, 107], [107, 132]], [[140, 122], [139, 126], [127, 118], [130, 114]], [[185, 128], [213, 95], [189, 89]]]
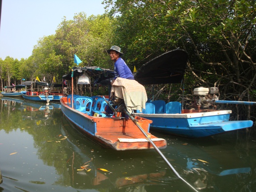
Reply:
[[121, 58], [121, 56], [123, 55], [123, 53], [121, 52], [121, 48], [116, 45], [113, 45], [110, 49], [107, 50], [107, 52], [111, 60], [115, 62], [114, 63], [115, 78], [114, 80], [112, 80], [111, 85], [115, 82], [117, 77], [134, 80], [132, 71], [124, 62], [124, 60]]

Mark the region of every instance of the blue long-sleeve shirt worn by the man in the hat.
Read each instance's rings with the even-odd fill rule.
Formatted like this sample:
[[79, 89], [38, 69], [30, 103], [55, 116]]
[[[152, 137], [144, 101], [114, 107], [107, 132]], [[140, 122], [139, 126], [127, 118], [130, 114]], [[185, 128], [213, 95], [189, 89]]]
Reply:
[[122, 58], [118, 58], [114, 64], [115, 78], [121, 77], [124, 79], [134, 80], [132, 72]]

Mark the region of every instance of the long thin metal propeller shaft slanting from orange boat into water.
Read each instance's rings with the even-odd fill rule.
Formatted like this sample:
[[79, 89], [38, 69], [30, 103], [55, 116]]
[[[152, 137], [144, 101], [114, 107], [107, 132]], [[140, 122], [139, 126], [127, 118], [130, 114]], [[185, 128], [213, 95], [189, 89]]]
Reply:
[[152, 144], [152, 146], [156, 149], [156, 152], [159, 153], [159, 155], [164, 159], [164, 161], [168, 164], [168, 166], [172, 169], [174, 174], [184, 181], [184, 183], [188, 184], [189, 187], [191, 187], [194, 191], [198, 192], [191, 184], [189, 184], [186, 180], [184, 180], [178, 172], [176, 172], [175, 168], [172, 166], [172, 164], [166, 159], [164, 154], [157, 148], [156, 144], [148, 137], [148, 134], [143, 130], [143, 128], [140, 127], [140, 125], [136, 122], [135, 118], [127, 111], [127, 109], [123, 106], [122, 111], [128, 115], [134, 124], [140, 129], [140, 131], [144, 134], [144, 136], [147, 138], [147, 140]]

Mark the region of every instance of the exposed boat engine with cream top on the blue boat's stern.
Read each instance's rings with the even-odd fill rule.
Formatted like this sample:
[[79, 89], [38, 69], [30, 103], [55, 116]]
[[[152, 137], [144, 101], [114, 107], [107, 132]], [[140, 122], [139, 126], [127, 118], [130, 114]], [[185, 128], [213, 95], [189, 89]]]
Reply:
[[194, 96], [196, 96], [196, 104], [198, 109], [208, 109], [214, 108], [216, 109], [216, 105], [212, 103], [215, 100], [219, 100], [219, 97], [216, 95], [219, 93], [219, 89], [212, 87], [212, 88], [195, 88], [193, 91]]

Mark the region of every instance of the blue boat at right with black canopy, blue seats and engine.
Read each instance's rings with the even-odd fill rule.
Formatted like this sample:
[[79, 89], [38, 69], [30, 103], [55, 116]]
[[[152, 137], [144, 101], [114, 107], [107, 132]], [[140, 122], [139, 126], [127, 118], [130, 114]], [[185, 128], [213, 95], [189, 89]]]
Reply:
[[[166, 52], [144, 64], [136, 73], [140, 84], [181, 83], [188, 60], [188, 53], [181, 49]], [[216, 88], [196, 88], [198, 106], [203, 109], [182, 109], [180, 102], [153, 101], [146, 103], [143, 113], [137, 116], [152, 120], [153, 130], [185, 137], [212, 136], [228, 131], [252, 127], [251, 120], [230, 121], [231, 110], [208, 109], [217, 100]], [[212, 95], [212, 98], [205, 99]]]

